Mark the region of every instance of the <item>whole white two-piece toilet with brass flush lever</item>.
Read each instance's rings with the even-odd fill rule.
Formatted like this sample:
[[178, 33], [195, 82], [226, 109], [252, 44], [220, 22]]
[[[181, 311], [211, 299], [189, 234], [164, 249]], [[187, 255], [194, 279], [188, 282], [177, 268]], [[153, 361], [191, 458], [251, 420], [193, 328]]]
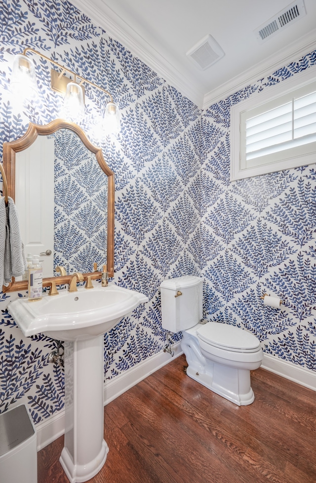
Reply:
[[238, 406], [251, 404], [250, 371], [260, 367], [263, 354], [250, 332], [202, 319], [203, 279], [184, 276], [160, 284], [162, 327], [182, 330], [181, 349], [187, 375]]

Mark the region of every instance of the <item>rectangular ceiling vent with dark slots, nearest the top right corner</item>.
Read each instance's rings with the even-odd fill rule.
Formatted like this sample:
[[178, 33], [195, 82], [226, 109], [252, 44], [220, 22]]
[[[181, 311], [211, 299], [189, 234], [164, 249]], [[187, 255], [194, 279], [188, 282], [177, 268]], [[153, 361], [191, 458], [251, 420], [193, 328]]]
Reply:
[[259, 40], [263, 42], [272, 35], [280, 32], [284, 27], [288, 27], [289, 24], [299, 20], [306, 15], [304, 0], [294, 1], [286, 8], [278, 12], [274, 17], [270, 18], [267, 22], [260, 25], [254, 33]]

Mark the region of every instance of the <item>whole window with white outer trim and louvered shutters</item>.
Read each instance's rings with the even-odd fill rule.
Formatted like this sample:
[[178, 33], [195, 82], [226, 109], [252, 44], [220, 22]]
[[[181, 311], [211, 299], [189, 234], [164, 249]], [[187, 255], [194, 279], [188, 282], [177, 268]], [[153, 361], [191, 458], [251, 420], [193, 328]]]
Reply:
[[240, 102], [231, 118], [232, 180], [316, 162], [315, 68]]

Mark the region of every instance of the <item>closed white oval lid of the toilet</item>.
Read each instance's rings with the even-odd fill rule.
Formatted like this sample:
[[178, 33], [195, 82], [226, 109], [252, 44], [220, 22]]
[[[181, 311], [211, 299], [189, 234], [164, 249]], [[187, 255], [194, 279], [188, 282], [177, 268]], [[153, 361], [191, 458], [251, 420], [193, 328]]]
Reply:
[[255, 352], [260, 347], [255, 335], [227, 323], [207, 322], [197, 329], [197, 336], [210, 345], [235, 352]]

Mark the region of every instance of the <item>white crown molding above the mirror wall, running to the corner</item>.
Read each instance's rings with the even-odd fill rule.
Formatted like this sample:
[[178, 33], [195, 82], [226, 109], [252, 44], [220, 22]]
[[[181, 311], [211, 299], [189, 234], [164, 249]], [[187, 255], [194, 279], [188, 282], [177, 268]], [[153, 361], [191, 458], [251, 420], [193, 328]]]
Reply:
[[101, 27], [113, 39], [120, 42], [133, 55], [153, 69], [159, 77], [178, 89], [199, 108], [203, 104], [204, 93], [149, 45], [134, 29], [119, 17], [102, 0], [71, 0], [73, 5], [84, 12], [96, 25]]

